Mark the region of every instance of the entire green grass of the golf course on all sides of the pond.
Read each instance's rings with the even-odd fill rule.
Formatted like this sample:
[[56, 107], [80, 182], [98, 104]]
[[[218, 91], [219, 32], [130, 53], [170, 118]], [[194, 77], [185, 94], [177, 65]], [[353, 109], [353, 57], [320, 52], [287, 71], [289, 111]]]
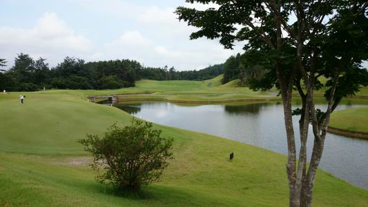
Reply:
[[[117, 195], [111, 186], [95, 181], [96, 172], [88, 166], [93, 158], [77, 140], [102, 135], [114, 123], [124, 126], [133, 116], [91, 103], [88, 95], [193, 103], [279, 99], [273, 92], [253, 92], [233, 83], [221, 86], [220, 79], [141, 80], [118, 90], [1, 93], [0, 206], [287, 206], [286, 155], [158, 124], [154, 128], [163, 137], [174, 139], [175, 159], [162, 181], [143, 188], [139, 198]], [[26, 95], [25, 104], [20, 94]], [[358, 114], [354, 130], [367, 132], [367, 113], [367, 108], [337, 112], [331, 126], [347, 126], [340, 120], [349, 122], [349, 115]], [[367, 205], [367, 190], [318, 170], [313, 206]]]

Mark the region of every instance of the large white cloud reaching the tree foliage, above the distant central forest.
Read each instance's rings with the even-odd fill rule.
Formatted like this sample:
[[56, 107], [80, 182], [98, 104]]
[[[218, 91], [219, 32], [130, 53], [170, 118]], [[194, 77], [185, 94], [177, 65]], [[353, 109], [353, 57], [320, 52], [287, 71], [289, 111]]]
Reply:
[[[208, 6], [205, 6], [208, 7]], [[203, 8], [204, 9], [204, 8]], [[175, 66], [177, 70], [202, 69], [210, 64], [223, 63], [230, 55], [241, 52], [225, 50], [218, 39], [189, 40], [196, 28], [180, 22], [175, 8], [149, 6], [137, 14], [137, 31], [126, 31], [117, 39], [104, 44], [104, 59], [135, 59], [145, 66]]]

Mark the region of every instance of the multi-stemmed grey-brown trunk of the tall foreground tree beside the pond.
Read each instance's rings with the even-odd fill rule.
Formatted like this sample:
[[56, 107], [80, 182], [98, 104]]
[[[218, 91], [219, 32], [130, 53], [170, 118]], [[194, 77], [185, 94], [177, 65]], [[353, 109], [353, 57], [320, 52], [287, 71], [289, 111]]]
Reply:
[[[276, 50], [281, 53], [282, 48], [282, 21], [280, 20], [280, 1], [270, 1], [271, 10], [274, 12], [275, 26], [276, 26]], [[287, 72], [282, 70], [281, 59], [276, 61], [276, 75], [280, 83], [280, 92], [282, 95], [282, 103], [284, 109], [284, 123], [287, 132], [287, 177], [289, 181], [289, 206], [311, 206], [313, 186], [316, 177], [316, 172], [320, 164], [322, 152], [325, 144], [325, 137], [327, 133], [327, 127], [329, 124], [329, 116], [332, 112], [333, 95], [336, 89], [338, 72], [333, 80], [333, 86], [331, 88], [331, 94], [329, 97], [328, 109], [325, 113], [323, 120], [318, 120], [316, 115], [316, 107], [313, 100], [313, 90], [315, 88], [314, 81], [316, 79], [314, 66], [316, 56], [313, 54], [313, 63], [310, 70], [307, 72], [304, 68], [302, 61], [302, 50], [304, 37], [303, 32], [305, 28], [304, 11], [297, 5], [297, 17], [298, 17], [298, 34], [293, 34], [297, 43], [297, 60], [296, 66], [291, 70], [291, 75], [287, 75]], [[298, 92], [302, 98], [302, 114], [299, 121], [300, 130], [300, 152], [298, 165], [296, 164], [296, 143], [293, 129], [293, 111], [291, 109], [291, 100], [293, 93], [293, 84], [296, 81], [296, 72], [300, 72], [304, 85], [307, 89], [307, 94], [304, 95], [300, 84], [297, 85]], [[309, 132], [309, 124], [313, 126], [314, 144], [311, 155], [311, 161], [309, 168], [307, 169], [307, 138]], [[321, 124], [322, 123], [322, 124]]]

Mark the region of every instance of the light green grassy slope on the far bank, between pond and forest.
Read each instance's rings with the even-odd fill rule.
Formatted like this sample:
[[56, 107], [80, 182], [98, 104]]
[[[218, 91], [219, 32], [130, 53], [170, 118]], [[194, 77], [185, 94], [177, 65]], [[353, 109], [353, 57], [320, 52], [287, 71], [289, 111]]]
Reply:
[[[22, 92], [25, 95], [78, 96], [86, 99], [87, 95], [122, 95], [123, 99], [167, 99], [186, 101], [224, 101], [231, 99], [269, 99], [275, 98], [267, 92], [253, 92], [249, 88], [221, 86], [222, 75], [206, 81], [152, 81], [141, 80], [133, 88], [118, 90], [47, 90], [45, 92]], [[220, 86], [220, 87], [219, 87]], [[126, 95], [139, 92], [152, 92], [145, 95]], [[12, 94], [19, 94], [13, 92]], [[0, 97], [1, 99], [1, 97]]]

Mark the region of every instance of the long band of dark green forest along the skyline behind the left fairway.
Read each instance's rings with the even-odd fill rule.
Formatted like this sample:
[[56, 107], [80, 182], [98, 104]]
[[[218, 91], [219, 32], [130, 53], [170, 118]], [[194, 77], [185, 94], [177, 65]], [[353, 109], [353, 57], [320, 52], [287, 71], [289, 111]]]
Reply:
[[[6, 61], [0, 59], [0, 66]], [[66, 57], [56, 67], [50, 68], [46, 59], [32, 59], [19, 54], [14, 66], [0, 71], [0, 89], [7, 91], [35, 91], [43, 88], [57, 89], [116, 89], [135, 86], [139, 79], [153, 80], [204, 80], [224, 72], [223, 65], [203, 70], [177, 71], [174, 67], [149, 68], [129, 59], [85, 62]]]

